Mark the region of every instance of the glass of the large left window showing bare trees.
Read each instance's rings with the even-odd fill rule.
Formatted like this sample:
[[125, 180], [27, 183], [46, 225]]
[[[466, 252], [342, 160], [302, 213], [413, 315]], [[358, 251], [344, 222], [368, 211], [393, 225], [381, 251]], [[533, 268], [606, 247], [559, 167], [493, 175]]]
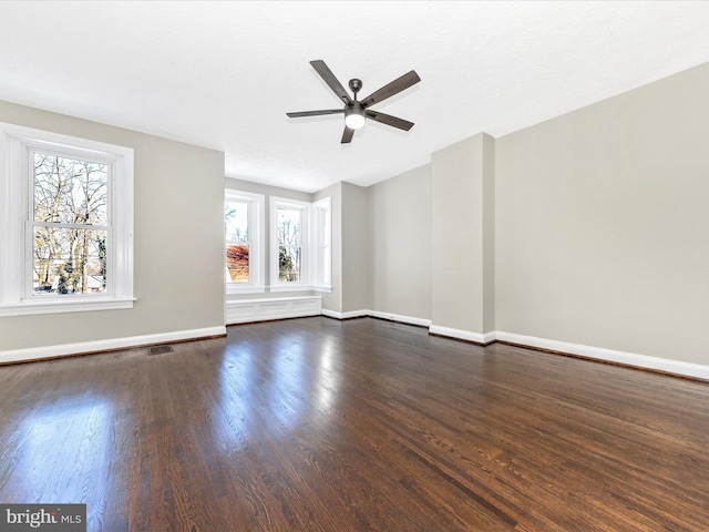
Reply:
[[34, 152], [35, 294], [106, 290], [109, 165]]

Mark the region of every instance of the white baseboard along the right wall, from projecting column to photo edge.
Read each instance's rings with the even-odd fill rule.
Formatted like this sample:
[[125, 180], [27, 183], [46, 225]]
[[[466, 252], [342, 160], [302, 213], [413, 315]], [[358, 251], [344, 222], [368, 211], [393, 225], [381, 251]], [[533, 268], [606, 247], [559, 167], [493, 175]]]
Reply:
[[582, 357], [595, 358], [608, 362], [635, 366], [638, 368], [654, 369], [669, 374], [684, 375], [698, 379], [709, 380], [709, 366], [700, 364], [682, 362], [680, 360], [668, 360], [666, 358], [650, 357], [635, 352], [616, 351], [603, 347], [585, 346], [582, 344], [571, 344], [566, 341], [549, 340], [534, 336], [515, 335], [513, 332], [496, 331], [495, 337], [500, 341], [508, 341], [521, 346], [547, 349], [549, 351], [578, 355]]

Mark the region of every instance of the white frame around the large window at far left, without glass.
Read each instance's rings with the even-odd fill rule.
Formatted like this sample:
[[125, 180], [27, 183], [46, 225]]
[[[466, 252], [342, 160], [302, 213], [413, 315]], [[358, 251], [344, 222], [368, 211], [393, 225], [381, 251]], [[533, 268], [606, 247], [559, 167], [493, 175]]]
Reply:
[[[32, 290], [30, 153], [110, 165], [106, 290], [38, 296]], [[133, 150], [0, 122], [0, 316], [132, 308]]]

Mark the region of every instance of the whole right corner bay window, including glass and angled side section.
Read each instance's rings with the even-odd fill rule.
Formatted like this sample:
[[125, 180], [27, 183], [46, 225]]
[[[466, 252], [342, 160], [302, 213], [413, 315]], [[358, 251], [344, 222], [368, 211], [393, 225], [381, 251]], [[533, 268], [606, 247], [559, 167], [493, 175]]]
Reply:
[[270, 291], [331, 289], [330, 198], [270, 198]]

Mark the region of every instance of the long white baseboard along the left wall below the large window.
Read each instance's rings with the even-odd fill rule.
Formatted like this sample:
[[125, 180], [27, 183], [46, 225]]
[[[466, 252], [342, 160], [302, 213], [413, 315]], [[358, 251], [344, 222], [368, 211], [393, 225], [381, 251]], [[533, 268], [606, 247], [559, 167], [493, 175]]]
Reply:
[[157, 335], [131, 336], [112, 338], [109, 340], [82, 341], [78, 344], [62, 344], [60, 346], [31, 347], [27, 349], [10, 349], [0, 351], [0, 362], [21, 362], [41, 358], [65, 357], [68, 355], [83, 355], [88, 352], [112, 349], [127, 349], [151, 344], [167, 344], [179, 340], [196, 340], [226, 335], [226, 327], [208, 327], [204, 329], [177, 330], [160, 332]]

